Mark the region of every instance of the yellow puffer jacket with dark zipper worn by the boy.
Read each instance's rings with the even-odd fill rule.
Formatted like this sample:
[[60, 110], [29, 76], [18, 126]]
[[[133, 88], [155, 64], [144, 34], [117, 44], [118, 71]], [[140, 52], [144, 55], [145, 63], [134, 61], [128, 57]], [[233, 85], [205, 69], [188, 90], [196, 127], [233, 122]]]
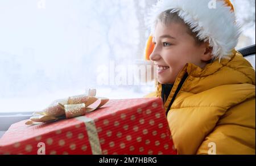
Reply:
[[[204, 69], [188, 63], [164, 108], [178, 154], [255, 154], [255, 70], [236, 51]], [[160, 97], [162, 85], [146, 97]], [[210, 153], [209, 153], [210, 152]]]

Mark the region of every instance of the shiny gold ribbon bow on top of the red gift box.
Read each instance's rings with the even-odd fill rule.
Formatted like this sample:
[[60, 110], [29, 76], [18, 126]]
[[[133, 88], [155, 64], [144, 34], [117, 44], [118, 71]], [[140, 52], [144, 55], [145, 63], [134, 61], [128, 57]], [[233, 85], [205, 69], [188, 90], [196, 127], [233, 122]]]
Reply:
[[89, 90], [87, 95], [77, 95], [67, 99], [55, 100], [42, 112], [33, 113], [30, 120], [26, 122], [26, 125], [83, 116], [102, 107], [102, 105], [109, 101], [108, 98], [95, 96], [96, 90]]

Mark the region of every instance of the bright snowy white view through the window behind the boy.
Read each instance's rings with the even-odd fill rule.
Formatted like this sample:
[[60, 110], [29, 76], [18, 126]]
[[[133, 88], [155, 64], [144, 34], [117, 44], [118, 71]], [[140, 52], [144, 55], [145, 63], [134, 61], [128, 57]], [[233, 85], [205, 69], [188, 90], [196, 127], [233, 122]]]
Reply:
[[[255, 44], [255, 1], [232, 1]], [[99, 84], [115, 65], [143, 62], [146, 16], [156, 0], [0, 0], [0, 112], [32, 112], [97, 88], [110, 99], [143, 97], [154, 83]], [[249, 58], [255, 68], [255, 56]], [[129, 72], [129, 69], [124, 72]], [[104, 81], [102, 81], [104, 82]]]

